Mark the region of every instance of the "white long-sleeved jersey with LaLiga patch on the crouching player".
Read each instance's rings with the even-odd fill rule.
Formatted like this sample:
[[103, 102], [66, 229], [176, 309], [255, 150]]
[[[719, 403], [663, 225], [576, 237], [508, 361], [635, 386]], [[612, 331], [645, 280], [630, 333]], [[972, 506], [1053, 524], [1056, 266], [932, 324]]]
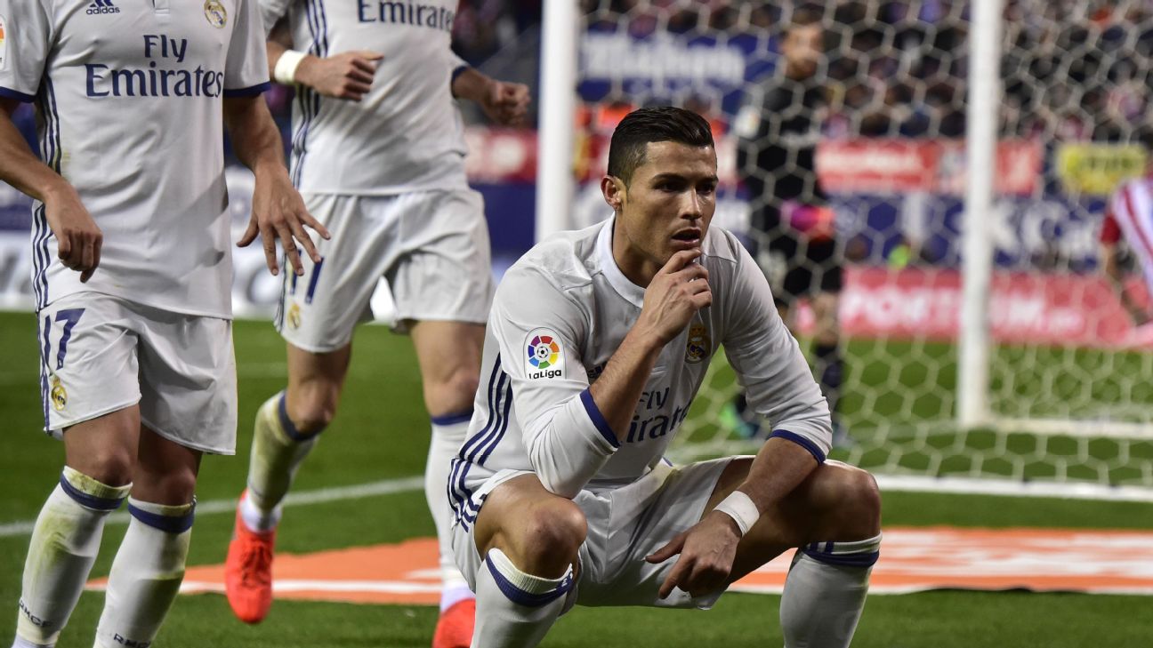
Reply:
[[450, 498], [467, 523], [472, 493], [502, 469], [532, 470], [553, 492], [635, 481], [672, 442], [722, 345], [748, 402], [823, 461], [828, 404], [773, 303], [760, 269], [711, 227], [700, 257], [713, 306], [661, 352], [627, 430], [609, 428], [589, 385], [636, 322], [645, 289], [612, 257], [612, 219], [537, 244], [505, 273], [489, 315], [468, 438]]

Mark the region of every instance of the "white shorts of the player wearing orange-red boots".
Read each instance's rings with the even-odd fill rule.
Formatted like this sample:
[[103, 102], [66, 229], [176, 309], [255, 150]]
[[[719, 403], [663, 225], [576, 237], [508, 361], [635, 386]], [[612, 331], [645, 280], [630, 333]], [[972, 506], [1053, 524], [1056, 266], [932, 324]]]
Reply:
[[301, 255], [304, 274], [285, 272], [274, 323], [289, 344], [314, 353], [347, 345], [356, 324], [372, 319], [370, 300], [382, 278], [395, 304], [397, 332], [408, 321], [488, 321], [492, 265], [480, 194], [303, 197], [332, 239], [315, 239], [321, 263]]

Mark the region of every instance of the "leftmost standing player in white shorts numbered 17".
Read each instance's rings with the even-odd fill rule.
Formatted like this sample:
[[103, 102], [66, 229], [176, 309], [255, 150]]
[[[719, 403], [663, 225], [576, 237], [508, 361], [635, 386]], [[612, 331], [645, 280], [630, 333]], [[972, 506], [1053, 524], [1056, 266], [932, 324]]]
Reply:
[[[241, 244], [259, 233], [276, 273], [279, 236], [299, 271], [297, 243], [316, 256], [302, 223], [324, 228], [261, 97], [255, 1], [0, 0], [0, 180], [35, 198], [45, 429], [66, 455], [14, 646], [55, 645], [128, 499], [95, 645], [146, 647], [184, 573], [201, 455], [235, 446], [224, 126], [256, 174]], [[43, 163], [16, 101], [36, 103]]]

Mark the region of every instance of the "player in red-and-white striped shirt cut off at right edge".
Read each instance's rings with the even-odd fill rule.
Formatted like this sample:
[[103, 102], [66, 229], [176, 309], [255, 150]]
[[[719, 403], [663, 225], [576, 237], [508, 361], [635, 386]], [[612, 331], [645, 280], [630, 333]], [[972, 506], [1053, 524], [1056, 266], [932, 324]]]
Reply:
[[1122, 241], [1129, 243], [1148, 294], [1153, 295], [1153, 134], [1141, 135], [1141, 144], [1147, 153], [1145, 174], [1122, 182], [1106, 205], [1105, 223], [1101, 226], [1101, 268], [1113, 284], [1122, 306], [1139, 329], [1136, 341], [1153, 344], [1153, 314], [1148, 312], [1125, 289], [1125, 277], [1121, 270]]

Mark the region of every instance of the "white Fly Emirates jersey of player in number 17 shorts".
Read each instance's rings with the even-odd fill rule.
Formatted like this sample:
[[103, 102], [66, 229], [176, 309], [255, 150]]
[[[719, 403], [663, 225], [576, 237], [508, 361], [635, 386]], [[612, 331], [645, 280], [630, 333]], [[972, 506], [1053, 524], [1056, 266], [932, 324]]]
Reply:
[[267, 88], [255, 0], [0, 0], [0, 96], [36, 101], [42, 159], [104, 233], [81, 284], [33, 204], [37, 309], [93, 291], [231, 317], [220, 114]]

